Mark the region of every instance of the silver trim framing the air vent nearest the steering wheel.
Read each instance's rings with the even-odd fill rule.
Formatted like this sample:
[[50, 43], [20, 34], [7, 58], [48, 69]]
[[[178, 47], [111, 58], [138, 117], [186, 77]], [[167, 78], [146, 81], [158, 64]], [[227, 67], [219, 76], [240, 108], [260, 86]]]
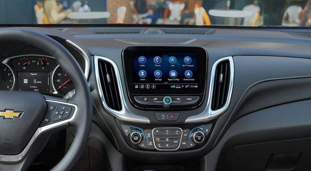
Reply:
[[[116, 78], [117, 78], [118, 90], [119, 90], [120, 99], [121, 99], [121, 107], [122, 107], [121, 111], [109, 108], [104, 99], [103, 90], [101, 88], [102, 86], [100, 83], [99, 68], [98, 68], [99, 59], [105, 62], [109, 62], [114, 67], [114, 71], [116, 73]], [[124, 92], [123, 92], [123, 87], [122, 87], [122, 82], [121, 82], [121, 76], [120, 76], [120, 72], [119, 72], [117, 64], [109, 58], [105, 58], [101, 56], [94, 56], [94, 65], [95, 65], [95, 78], [97, 82], [97, 88], [98, 88], [101, 103], [103, 104], [104, 109], [109, 114], [111, 114], [115, 118], [118, 118], [122, 121], [150, 123], [150, 120], [147, 117], [136, 115], [128, 109], [128, 106], [126, 105], [126, 102], [125, 102], [125, 97], [124, 97]]]

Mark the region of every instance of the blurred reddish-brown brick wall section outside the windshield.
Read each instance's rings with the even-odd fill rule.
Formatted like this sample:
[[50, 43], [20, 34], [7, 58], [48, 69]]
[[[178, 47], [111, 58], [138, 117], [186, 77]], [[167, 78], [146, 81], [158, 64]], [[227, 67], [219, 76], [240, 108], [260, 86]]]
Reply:
[[133, 12], [130, 6], [132, 0], [107, 0], [107, 11], [110, 12], [110, 17], [108, 18], [108, 24], [115, 24], [117, 21], [117, 9], [118, 7], [125, 6], [126, 13], [124, 24], [133, 24]]

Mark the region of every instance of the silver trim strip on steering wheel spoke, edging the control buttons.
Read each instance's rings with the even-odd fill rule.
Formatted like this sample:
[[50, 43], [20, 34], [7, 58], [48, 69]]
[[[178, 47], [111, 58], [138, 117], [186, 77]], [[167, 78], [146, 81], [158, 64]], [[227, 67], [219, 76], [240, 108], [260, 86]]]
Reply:
[[46, 100], [47, 102], [54, 102], [54, 103], [59, 103], [59, 104], [65, 104], [65, 105], [70, 105], [73, 106], [75, 109], [73, 115], [71, 118], [60, 121], [60, 122], [56, 122], [50, 125], [46, 125], [44, 127], [39, 127], [37, 129], [37, 131], [35, 132], [35, 135], [32, 136], [32, 138], [30, 139], [29, 143], [27, 144], [27, 146], [25, 147], [25, 149], [18, 155], [0, 155], [0, 161], [7, 161], [7, 162], [16, 162], [21, 160], [27, 153], [27, 151], [30, 149], [31, 145], [34, 143], [35, 139], [44, 131], [51, 129], [53, 127], [57, 127], [59, 125], [63, 125], [65, 123], [71, 122], [73, 121], [73, 119], [76, 117], [77, 115], [77, 111], [78, 111], [78, 106], [75, 104], [70, 104], [70, 103], [64, 103], [64, 102], [59, 102], [59, 101], [54, 101], [54, 100]]

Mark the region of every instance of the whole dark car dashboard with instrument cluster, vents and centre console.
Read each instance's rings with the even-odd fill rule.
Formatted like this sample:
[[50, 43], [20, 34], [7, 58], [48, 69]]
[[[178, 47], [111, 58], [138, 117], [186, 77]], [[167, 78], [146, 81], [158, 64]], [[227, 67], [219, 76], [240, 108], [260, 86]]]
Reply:
[[[285, 147], [310, 141], [308, 29], [26, 29], [63, 44], [95, 83], [93, 113], [86, 114], [101, 133], [91, 134], [90, 146], [115, 155], [107, 160], [111, 170], [271, 170], [287, 167], [271, 155], [294, 151], [301, 162], [291, 167], [306, 168], [308, 148]], [[16, 42], [3, 48], [1, 90], [65, 97], [74, 89], [42, 49]]]

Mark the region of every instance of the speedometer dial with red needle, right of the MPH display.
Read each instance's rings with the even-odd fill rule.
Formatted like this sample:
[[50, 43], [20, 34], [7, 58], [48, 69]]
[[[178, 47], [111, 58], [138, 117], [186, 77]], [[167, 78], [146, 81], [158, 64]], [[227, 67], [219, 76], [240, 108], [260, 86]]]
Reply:
[[71, 81], [70, 77], [60, 66], [56, 68], [53, 78], [54, 86], [58, 93], [66, 95], [69, 91], [75, 89], [75, 85]]

